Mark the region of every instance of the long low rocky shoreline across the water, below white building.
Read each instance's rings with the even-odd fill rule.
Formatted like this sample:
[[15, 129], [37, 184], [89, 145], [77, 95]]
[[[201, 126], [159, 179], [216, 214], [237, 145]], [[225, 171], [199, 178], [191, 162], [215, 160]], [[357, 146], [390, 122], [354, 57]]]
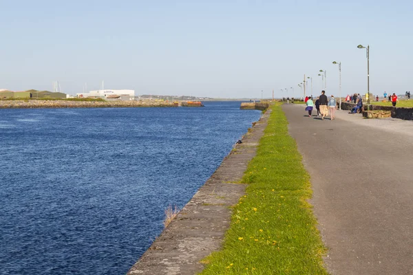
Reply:
[[76, 100], [0, 100], [0, 109], [32, 108], [125, 108], [177, 107], [173, 102], [153, 100], [76, 101]]

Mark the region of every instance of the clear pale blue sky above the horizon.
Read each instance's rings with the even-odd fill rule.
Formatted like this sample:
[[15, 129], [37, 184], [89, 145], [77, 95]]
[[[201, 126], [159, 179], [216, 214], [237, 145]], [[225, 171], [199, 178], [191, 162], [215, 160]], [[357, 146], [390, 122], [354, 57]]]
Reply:
[[[213, 98], [412, 90], [413, 1], [0, 0], [0, 89]], [[341, 93], [339, 66], [341, 62]]]

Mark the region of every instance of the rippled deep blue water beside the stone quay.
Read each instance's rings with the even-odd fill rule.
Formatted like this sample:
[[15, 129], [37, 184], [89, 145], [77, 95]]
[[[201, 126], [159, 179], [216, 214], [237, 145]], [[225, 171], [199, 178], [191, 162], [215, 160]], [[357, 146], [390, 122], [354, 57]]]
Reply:
[[260, 111], [0, 109], [0, 274], [125, 274]]

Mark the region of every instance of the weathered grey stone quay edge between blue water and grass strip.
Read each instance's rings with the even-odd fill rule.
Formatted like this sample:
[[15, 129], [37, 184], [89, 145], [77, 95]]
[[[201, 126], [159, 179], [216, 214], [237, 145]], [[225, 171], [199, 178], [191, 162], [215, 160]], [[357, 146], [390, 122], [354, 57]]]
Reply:
[[244, 195], [245, 184], [238, 184], [248, 162], [255, 156], [270, 111], [255, 123], [233, 151], [158, 236], [128, 275], [185, 275], [201, 272], [200, 262], [220, 250], [231, 223], [231, 206]]

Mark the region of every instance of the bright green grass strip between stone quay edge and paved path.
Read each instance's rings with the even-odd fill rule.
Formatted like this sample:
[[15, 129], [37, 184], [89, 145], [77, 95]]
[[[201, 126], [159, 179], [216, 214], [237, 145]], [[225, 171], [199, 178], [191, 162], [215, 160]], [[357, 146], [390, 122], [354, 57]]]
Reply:
[[309, 175], [280, 103], [271, 108], [257, 155], [242, 179], [246, 195], [234, 206], [222, 250], [202, 261], [207, 264], [202, 275], [328, 274], [321, 259], [326, 249], [307, 202]]

